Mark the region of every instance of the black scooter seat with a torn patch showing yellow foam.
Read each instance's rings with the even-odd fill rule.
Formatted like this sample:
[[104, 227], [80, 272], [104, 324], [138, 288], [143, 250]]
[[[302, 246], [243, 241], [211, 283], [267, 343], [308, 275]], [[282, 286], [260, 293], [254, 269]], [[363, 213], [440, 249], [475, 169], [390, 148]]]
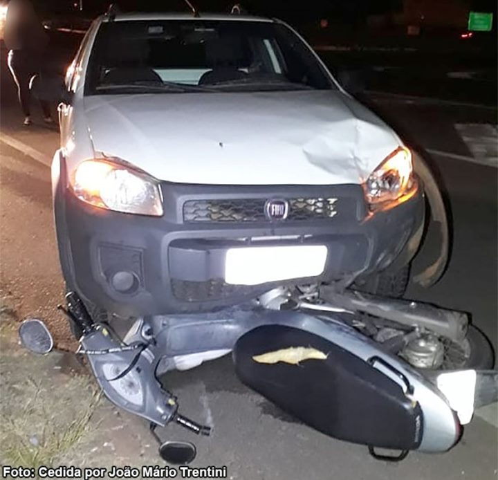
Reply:
[[324, 434], [392, 450], [421, 443], [421, 408], [406, 389], [319, 335], [261, 326], [239, 338], [234, 362], [243, 383]]

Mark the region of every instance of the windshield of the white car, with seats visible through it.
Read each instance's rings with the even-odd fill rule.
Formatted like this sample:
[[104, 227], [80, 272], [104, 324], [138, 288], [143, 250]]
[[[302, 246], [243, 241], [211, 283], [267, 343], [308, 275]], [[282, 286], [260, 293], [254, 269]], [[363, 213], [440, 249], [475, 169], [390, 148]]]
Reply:
[[114, 21], [100, 27], [86, 95], [333, 89], [286, 26], [261, 21]]

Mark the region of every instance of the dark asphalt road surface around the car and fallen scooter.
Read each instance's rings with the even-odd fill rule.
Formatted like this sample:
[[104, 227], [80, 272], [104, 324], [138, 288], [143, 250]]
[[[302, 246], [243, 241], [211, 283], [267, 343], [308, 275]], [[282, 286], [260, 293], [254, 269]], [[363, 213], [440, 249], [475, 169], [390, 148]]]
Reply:
[[[30, 129], [21, 127], [3, 53], [0, 61], [1, 294], [14, 299], [23, 317], [44, 317], [62, 347], [70, 348], [65, 322], [55, 309], [62, 301], [63, 286], [48, 165], [58, 133], [45, 127], [41, 118], [35, 118]], [[426, 91], [415, 97], [369, 95], [371, 105], [434, 165], [452, 210], [453, 248], [447, 273], [427, 290], [411, 286], [408, 296], [468, 311], [496, 348], [497, 111], [492, 101], [476, 104], [476, 99], [465, 102], [459, 97], [457, 102], [448, 98], [442, 102], [426, 95]], [[415, 270], [434, 255], [436, 242], [430, 239]], [[215, 427], [210, 439], [174, 432], [196, 441], [199, 465], [228, 465], [234, 479], [497, 478], [497, 424], [492, 410], [474, 417], [461, 443], [447, 454], [412, 453], [403, 463], [390, 465], [371, 459], [365, 447], [329, 439], [295, 423], [243, 387], [228, 358], [173, 373], [168, 382], [185, 414], [201, 421], [211, 416]]]

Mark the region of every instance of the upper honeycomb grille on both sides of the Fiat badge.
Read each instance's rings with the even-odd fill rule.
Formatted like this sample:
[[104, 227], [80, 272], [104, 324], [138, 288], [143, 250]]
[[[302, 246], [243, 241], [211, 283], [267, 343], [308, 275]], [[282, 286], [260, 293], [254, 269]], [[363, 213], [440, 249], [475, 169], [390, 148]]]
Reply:
[[[328, 220], [337, 214], [335, 198], [289, 199], [288, 221]], [[183, 221], [257, 222], [268, 221], [266, 199], [190, 200], [183, 204]]]

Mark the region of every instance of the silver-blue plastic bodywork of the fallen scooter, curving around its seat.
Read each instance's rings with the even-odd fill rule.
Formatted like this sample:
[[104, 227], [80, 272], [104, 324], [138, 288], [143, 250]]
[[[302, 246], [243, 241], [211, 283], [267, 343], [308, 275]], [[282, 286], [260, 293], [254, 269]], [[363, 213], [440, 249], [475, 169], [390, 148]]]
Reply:
[[[371, 373], [371, 369], [381, 372], [383, 376], [389, 379], [389, 384], [383, 380], [385, 385], [390, 385], [390, 383], [394, 382], [398, 383], [400, 388], [403, 388], [406, 382], [400, 380], [399, 374], [406, 378], [412, 389], [410, 396], [419, 405], [423, 413], [423, 421], [419, 429], [423, 432], [423, 435], [421, 435], [420, 441], [412, 443], [418, 447], [418, 450], [443, 452], [452, 447], [457, 441], [459, 424], [455, 420], [455, 414], [448, 401], [429, 380], [412, 369], [412, 367], [409, 367], [408, 364], [383, 351], [378, 344], [340, 322], [340, 320], [331, 320], [330, 317], [324, 320], [320, 317], [297, 311], [268, 311], [263, 308], [231, 308], [227, 311], [210, 313], [201, 317], [199, 315], [172, 315], [154, 317], [150, 322], [139, 320], [136, 327], [132, 329], [133, 335], [127, 337], [127, 343], [145, 342], [141, 335], [146, 330], [150, 330], [149, 334], [154, 338], [154, 342], [149, 344], [147, 349], [138, 353], [140, 358], [144, 357], [143, 361], [139, 359], [140, 365], [142, 365], [140, 372], [135, 369], [120, 378], [120, 380], [125, 381], [128, 375], [130, 380], [132, 375], [135, 378], [138, 376], [140, 380], [134, 380], [135, 385], [149, 385], [147, 387], [147, 406], [144, 405], [143, 408], [134, 407], [135, 413], [149, 420], [155, 418], [156, 423], [160, 425], [165, 423], [163, 416], [169, 410], [165, 405], [169, 396], [165, 395], [158, 383], [155, 383], [157, 388], [150, 389], [151, 383], [157, 382], [155, 373], [161, 359], [168, 362], [175, 356], [186, 354], [209, 353], [216, 350], [230, 351], [234, 349], [237, 340], [242, 335], [257, 329], [259, 326], [268, 325], [292, 327], [302, 331], [304, 334], [316, 335], [322, 339], [320, 341], [331, 342], [336, 348], [346, 352], [349, 358], [353, 358], [351, 363], [358, 364], [358, 361], [360, 361], [365, 364], [365, 367], [368, 364], [369, 367], [365, 371], [368, 371], [369, 374], [374, 374]], [[93, 344], [93, 342], [91, 343]], [[100, 348], [104, 348], [104, 344], [98, 343]], [[87, 348], [89, 347], [89, 342], [83, 341], [83, 344]], [[116, 344], [109, 340], [109, 347], [116, 347]], [[112, 357], [109, 357], [111, 363], [118, 361], [115, 355], [113, 354]], [[128, 352], [127, 359], [129, 358]], [[377, 358], [378, 362], [369, 364], [368, 362], [371, 362], [372, 358]], [[102, 356], [89, 356], [94, 372], [99, 377], [100, 385], [104, 391], [111, 389], [109, 391], [111, 395], [108, 394], [109, 398], [122, 407], [120, 399], [116, 397], [116, 388], [111, 385], [116, 380], [111, 382], [107, 380], [107, 376], [102, 375], [105, 360], [107, 359], [102, 358]], [[120, 363], [125, 364], [126, 362]], [[99, 367], [95, 368], [97, 364], [99, 364]], [[386, 368], [386, 364], [390, 368]], [[359, 373], [357, 373], [357, 376], [358, 378], [361, 377]], [[127, 407], [129, 409], [129, 404]], [[141, 411], [141, 413], [138, 411]], [[413, 439], [416, 438], [415, 432], [410, 435]]]

